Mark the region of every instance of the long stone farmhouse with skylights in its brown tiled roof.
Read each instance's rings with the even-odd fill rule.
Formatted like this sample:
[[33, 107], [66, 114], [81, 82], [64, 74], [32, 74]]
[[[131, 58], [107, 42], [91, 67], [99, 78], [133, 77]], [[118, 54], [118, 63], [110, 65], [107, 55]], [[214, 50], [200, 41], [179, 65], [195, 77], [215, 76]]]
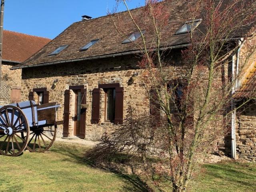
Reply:
[[[165, 3], [177, 10], [163, 32], [165, 44], [172, 49], [170, 54], [175, 58], [170, 62], [170, 68], [173, 78], [177, 79], [182, 78], [179, 53], [188, 46], [187, 31], [177, 32], [190, 19], [184, 19], [186, 11], [182, 12], [184, 17], [179, 17], [180, 7], [185, 1]], [[139, 16], [141, 9], [132, 10], [132, 14]], [[59, 137], [97, 140], [104, 132], [122, 124], [128, 105], [138, 112], [150, 112], [150, 101], [141, 80], [142, 70], [138, 67], [139, 51], [129, 43], [139, 41], [140, 35], [128, 12], [118, 16], [125, 21], [123, 30], [130, 34], [128, 39], [116, 31], [110, 16], [95, 19], [84, 16], [82, 21], [69, 26], [28, 60], [12, 68], [22, 69], [22, 100], [61, 104], [58, 118], [64, 119], [64, 125], [58, 129]], [[242, 43], [253, 32], [254, 27], [250, 26], [236, 39]], [[239, 83], [241, 88], [237, 87], [236, 98], [256, 96], [255, 61], [245, 74], [246, 78]], [[219, 143], [220, 149], [230, 150], [233, 146], [233, 157], [237, 154], [256, 162], [256, 106], [252, 105], [233, 121], [233, 135], [230, 133], [224, 142]]]

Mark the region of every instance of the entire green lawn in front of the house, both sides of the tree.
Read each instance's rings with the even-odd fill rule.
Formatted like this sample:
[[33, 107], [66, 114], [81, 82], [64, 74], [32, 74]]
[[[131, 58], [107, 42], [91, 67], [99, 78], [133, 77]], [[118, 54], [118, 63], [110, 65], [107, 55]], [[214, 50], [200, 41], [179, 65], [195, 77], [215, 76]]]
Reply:
[[[136, 177], [93, 168], [83, 161], [86, 147], [55, 142], [50, 152], [0, 156], [0, 192], [143, 192]], [[206, 164], [193, 192], [254, 192], [256, 164]]]

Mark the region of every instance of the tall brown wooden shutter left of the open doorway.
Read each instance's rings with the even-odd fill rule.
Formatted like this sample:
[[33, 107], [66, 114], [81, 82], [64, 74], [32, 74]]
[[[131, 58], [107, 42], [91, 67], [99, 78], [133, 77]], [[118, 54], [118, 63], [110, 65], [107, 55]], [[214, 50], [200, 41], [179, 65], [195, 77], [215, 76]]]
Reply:
[[70, 102], [70, 90], [66, 90], [64, 93], [64, 124], [63, 124], [63, 137], [68, 137], [68, 124], [69, 124], [69, 102]]

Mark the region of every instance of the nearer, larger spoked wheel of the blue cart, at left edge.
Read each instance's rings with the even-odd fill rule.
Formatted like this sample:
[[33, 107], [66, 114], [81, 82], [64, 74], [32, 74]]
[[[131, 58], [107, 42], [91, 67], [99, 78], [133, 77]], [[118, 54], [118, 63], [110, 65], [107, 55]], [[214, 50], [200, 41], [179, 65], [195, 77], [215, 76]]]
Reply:
[[[18, 156], [28, 144], [30, 128], [22, 110], [16, 106], [0, 108], [0, 154]], [[22, 138], [22, 135], [26, 138]]]

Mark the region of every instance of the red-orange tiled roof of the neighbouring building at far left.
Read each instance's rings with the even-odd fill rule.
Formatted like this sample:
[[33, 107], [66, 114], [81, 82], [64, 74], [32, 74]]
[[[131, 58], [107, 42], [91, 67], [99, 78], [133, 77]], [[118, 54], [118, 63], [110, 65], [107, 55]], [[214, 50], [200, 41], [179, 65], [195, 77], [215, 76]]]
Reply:
[[3, 60], [23, 62], [50, 41], [48, 38], [4, 30]]

